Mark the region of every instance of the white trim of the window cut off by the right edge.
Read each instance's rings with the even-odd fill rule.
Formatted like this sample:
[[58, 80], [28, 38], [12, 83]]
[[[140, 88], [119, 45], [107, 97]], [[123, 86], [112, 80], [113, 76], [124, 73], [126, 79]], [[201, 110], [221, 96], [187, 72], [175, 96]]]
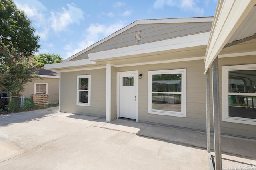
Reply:
[[[222, 121], [256, 125], [256, 119], [230, 117], [228, 114], [228, 72], [237, 70], [256, 70], [256, 64], [222, 66]], [[231, 93], [230, 93], [231, 94]], [[255, 93], [240, 93], [256, 96]]]

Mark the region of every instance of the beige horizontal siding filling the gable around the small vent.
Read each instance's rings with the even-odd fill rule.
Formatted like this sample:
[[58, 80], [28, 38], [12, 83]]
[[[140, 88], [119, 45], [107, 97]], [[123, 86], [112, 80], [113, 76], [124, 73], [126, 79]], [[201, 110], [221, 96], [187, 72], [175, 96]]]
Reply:
[[[212, 26], [211, 22], [206, 23], [165, 23], [165, 24], [139, 24], [123, 33], [120, 33], [116, 37], [109, 39], [108, 41], [86, 51], [82, 55], [70, 60], [80, 60], [88, 58], [89, 53], [98, 51], [117, 49], [121, 47], [127, 47], [130, 45], [138, 45], [143, 43], [149, 43], [154, 41], [160, 41], [164, 39], [171, 39], [175, 37], [182, 37], [186, 35], [192, 35], [197, 33], [203, 33], [210, 31]], [[134, 42], [134, 32], [142, 31], [142, 41]]]

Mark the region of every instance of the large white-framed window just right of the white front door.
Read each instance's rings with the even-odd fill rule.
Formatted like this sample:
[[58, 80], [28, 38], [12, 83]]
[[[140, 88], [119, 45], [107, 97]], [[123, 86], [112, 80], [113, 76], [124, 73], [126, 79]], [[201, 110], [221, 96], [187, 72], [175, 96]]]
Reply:
[[148, 72], [148, 113], [186, 117], [186, 69]]

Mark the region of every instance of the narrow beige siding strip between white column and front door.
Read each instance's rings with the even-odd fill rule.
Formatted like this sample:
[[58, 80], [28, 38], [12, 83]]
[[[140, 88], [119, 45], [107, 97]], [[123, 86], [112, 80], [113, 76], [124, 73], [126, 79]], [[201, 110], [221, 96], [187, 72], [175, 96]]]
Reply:
[[111, 121], [116, 119], [116, 67], [111, 67]]

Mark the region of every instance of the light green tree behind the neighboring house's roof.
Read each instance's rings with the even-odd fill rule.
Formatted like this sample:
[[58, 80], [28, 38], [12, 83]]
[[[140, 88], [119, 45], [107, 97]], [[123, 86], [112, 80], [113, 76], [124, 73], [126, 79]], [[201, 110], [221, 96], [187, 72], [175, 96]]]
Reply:
[[35, 64], [40, 67], [43, 67], [44, 64], [60, 63], [63, 61], [63, 58], [60, 55], [49, 53], [40, 53], [38, 56], [35, 56], [34, 58]]

